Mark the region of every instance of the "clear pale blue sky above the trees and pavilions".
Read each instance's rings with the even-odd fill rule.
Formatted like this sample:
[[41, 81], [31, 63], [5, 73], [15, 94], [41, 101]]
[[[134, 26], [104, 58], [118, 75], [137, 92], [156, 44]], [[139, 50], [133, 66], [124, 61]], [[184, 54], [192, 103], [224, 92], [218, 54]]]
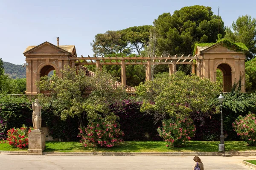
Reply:
[[0, 47], [5, 62], [22, 64], [28, 45], [48, 41], [76, 45], [78, 56], [93, 55], [90, 42], [98, 33], [152, 25], [164, 12], [184, 6], [212, 7], [225, 26], [239, 16], [256, 18], [256, 0], [0, 0]]

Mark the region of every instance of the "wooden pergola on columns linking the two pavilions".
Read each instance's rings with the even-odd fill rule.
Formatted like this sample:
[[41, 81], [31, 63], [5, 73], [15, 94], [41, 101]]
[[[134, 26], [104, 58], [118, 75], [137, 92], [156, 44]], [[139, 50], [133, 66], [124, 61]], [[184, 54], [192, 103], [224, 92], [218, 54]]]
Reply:
[[[125, 65], [146, 65], [146, 80], [151, 80], [151, 65], [169, 65], [169, 73], [173, 74], [176, 72], [177, 64], [191, 64], [192, 65], [192, 73], [195, 74], [195, 62], [197, 66], [197, 75], [201, 77], [201, 56], [167, 56], [167, 57], [73, 57], [70, 58], [72, 60], [72, 67], [75, 65], [96, 65], [96, 68], [102, 69], [102, 65], [121, 65], [121, 79], [122, 84], [126, 85], [126, 74], [125, 74]], [[90, 62], [89, 62], [90, 61]]]

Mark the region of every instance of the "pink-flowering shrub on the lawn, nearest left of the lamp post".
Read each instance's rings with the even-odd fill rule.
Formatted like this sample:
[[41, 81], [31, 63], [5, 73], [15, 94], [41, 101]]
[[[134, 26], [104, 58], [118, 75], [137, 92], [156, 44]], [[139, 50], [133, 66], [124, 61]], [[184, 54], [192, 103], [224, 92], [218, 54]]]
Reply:
[[157, 131], [165, 142], [167, 147], [180, 147], [185, 145], [195, 135], [195, 125], [191, 118], [177, 117], [163, 120], [163, 127], [158, 127]]

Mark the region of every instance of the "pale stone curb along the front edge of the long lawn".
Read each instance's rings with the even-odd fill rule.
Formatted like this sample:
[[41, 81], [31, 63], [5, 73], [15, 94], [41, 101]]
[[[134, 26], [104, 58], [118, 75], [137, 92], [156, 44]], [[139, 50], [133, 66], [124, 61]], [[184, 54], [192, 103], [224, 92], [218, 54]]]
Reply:
[[[0, 151], [5, 155], [27, 155], [26, 151]], [[244, 152], [43, 152], [47, 156], [255, 156], [256, 151]], [[247, 164], [250, 164], [247, 162]], [[256, 167], [255, 167], [256, 168]]]

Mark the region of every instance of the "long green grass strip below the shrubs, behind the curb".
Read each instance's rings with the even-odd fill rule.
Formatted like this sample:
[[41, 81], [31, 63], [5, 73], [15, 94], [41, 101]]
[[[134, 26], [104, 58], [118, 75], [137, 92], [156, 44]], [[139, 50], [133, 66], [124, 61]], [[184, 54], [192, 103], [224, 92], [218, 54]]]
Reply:
[[[163, 141], [127, 141], [119, 146], [83, 147], [80, 142], [46, 142], [44, 152], [218, 152], [219, 142], [190, 141], [185, 147], [166, 147]], [[0, 144], [0, 150], [26, 151], [25, 149], [13, 148], [9, 144]], [[247, 146], [241, 141], [225, 142], [226, 151], [256, 151], [256, 147]]]

